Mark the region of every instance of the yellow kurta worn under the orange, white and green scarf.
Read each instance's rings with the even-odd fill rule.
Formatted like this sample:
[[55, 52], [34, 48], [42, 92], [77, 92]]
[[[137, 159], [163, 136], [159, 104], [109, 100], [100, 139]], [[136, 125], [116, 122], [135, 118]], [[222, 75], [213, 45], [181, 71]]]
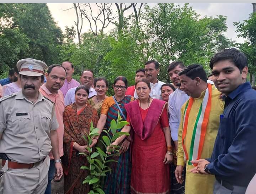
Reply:
[[[188, 155], [190, 154], [190, 145], [193, 133], [193, 127], [196, 122], [196, 117], [198, 115], [199, 108], [202, 104], [205, 90], [201, 93], [199, 98], [194, 98], [194, 103], [192, 105], [190, 115], [188, 118], [188, 129], [185, 137], [185, 146]], [[201, 158], [209, 158], [212, 155], [213, 146], [215, 138], [219, 128], [220, 115], [224, 110], [224, 101], [219, 99], [220, 92], [212, 85], [212, 101], [209, 121], [207, 125], [207, 132], [204, 139], [203, 150]], [[188, 161], [185, 161], [185, 154], [182, 148], [182, 129], [183, 129], [183, 118], [186, 103], [181, 108], [181, 120], [178, 130], [178, 151], [177, 151], [177, 165], [185, 165], [186, 162], [186, 183], [185, 183], [185, 193], [186, 194], [212, 194], [213, 184], [215, 178], [213, 175], [202, 175], [193, 174], [189, 172], [194, 166], [188, 165]]]

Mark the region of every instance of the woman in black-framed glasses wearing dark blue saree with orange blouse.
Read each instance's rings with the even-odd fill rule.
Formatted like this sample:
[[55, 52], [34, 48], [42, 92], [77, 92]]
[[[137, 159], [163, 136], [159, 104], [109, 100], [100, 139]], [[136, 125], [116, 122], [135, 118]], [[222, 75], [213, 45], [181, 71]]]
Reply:
[[[97, 124], [100, 133], [104, 126], [107, 129], [110, 127], [110, 122], [114, 119], [117, 120], [118, 111], [120, 116], [126, 120], [126, 110], [124, 105], [133, 101], [134, 98], [130, 95], [125, 95], [127, 89], [127, 79], [123, 76], [118, 76], [113, 83], [114, 95], [105, 99], [101, 106], [101, 115]], [[111, 135], [111, 134], [110, 134]], [[96, 140], [93, 140], [96, 144]], [[111, 174], [108, 172], [104, 192], [111, 194], [130, 194], [130, 139], [125, 139], [120, 148], [120, 156], [113, 158], [117, 162], [111, 163]]]

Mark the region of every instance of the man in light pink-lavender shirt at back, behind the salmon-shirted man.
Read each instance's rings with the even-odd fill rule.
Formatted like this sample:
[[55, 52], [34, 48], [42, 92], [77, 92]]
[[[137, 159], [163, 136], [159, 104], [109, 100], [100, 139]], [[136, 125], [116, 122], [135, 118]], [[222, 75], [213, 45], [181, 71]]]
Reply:
[[65, 79], [63, 86], [60, 88], [60, 90], [62, 91], [63, 96], [65, 98], [68, 90], [71, 88], [74, 88], [74, 87], [78, 87], [80, 85], [80, 83], [72, 78], [72, 75], [73, 75], [75, 69], [71, 62], [64, 61], [62, 63], [62, 66], [66, 69], [66, 79]]

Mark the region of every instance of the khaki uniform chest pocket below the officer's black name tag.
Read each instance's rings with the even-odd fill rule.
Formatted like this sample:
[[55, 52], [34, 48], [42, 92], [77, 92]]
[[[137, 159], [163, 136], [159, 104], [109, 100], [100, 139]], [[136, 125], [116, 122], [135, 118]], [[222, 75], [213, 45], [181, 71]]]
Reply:
[[28, 113], [27, 115], [20, 115], [20, 116], [17, 116], [16, 114], [11, 115], [11, 120], [12, 120], [12, 125], [14, 126], [13, 132], [15, 134], [21, 134], [21, 133], [26, 133], [30, 131], [30, 127], [29, 127], [29, 124], [31, 123], [30, 113]]

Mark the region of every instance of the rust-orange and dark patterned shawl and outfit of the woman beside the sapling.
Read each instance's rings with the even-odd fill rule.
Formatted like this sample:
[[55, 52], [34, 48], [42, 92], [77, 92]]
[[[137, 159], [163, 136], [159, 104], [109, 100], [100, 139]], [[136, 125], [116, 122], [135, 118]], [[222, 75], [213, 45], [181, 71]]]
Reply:
[[87, 145], [82, 135], [89, 133], [91, 121], [96, 127], [98, 114], [96, 109], [90, 105], [86, 105], [79, 115], [75, 102], [66, 106], [63, 116], [64, 156], [62, 160], [65, 194], [84, 194], [90, 191], [89, 184], [82, 184], [89, 172], [80, 169], [81, 166], [87, 166], [88, 162], [86, 157], [78, 155], [73, 145], [74, 142]]

